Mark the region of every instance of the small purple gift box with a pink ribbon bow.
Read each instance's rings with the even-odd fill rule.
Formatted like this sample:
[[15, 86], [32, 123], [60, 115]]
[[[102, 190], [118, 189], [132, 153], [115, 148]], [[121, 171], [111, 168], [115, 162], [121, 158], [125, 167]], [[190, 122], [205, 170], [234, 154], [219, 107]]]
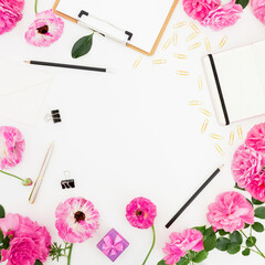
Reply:
[[126, 241], [115, 229], [112, 229], [97, 244], [97, 247], [112, 262], [115, 262], [128, 245], [129, 242]]

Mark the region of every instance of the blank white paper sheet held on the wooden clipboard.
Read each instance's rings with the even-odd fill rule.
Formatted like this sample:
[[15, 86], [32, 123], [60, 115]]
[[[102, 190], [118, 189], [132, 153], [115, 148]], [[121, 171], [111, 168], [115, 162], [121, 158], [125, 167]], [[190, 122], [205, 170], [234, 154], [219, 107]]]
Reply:
[[61, 0], [57, 11], [78, 19], [81, 10], [131, 32], [130, 44], [150, 52], [173, 0]]

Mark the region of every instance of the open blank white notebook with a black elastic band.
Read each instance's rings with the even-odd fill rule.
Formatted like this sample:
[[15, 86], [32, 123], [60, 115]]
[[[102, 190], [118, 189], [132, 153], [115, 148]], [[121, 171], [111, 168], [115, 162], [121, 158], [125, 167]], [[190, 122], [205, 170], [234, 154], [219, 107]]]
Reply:
[[265, 41], [203, 57], [220, 124], [265, 114], [264, 64]]

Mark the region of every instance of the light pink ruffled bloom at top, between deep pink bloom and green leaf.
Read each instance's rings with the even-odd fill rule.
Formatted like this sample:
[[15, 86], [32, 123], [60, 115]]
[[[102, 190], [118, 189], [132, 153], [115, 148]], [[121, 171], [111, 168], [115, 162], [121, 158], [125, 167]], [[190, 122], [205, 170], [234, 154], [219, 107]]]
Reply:
[[233, 25], [240, 13], [243, 12], [241, 4], [236, 4], [235, 0], [220, 6], [219, 8], [209, 12], [208, 17], [201, 22], [202, 25], [210, 25], [213, 30], [222, 30], [229, 25]]

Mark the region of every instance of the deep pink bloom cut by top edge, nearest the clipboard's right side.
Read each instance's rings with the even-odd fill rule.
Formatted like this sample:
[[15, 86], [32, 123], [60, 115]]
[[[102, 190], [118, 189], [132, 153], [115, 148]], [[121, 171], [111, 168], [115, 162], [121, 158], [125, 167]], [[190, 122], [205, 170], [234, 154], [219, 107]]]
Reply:
[[220, 0], [183, 0], [186, 13], [198, 21], [203, 21], [211, 10], [221, 4]]

